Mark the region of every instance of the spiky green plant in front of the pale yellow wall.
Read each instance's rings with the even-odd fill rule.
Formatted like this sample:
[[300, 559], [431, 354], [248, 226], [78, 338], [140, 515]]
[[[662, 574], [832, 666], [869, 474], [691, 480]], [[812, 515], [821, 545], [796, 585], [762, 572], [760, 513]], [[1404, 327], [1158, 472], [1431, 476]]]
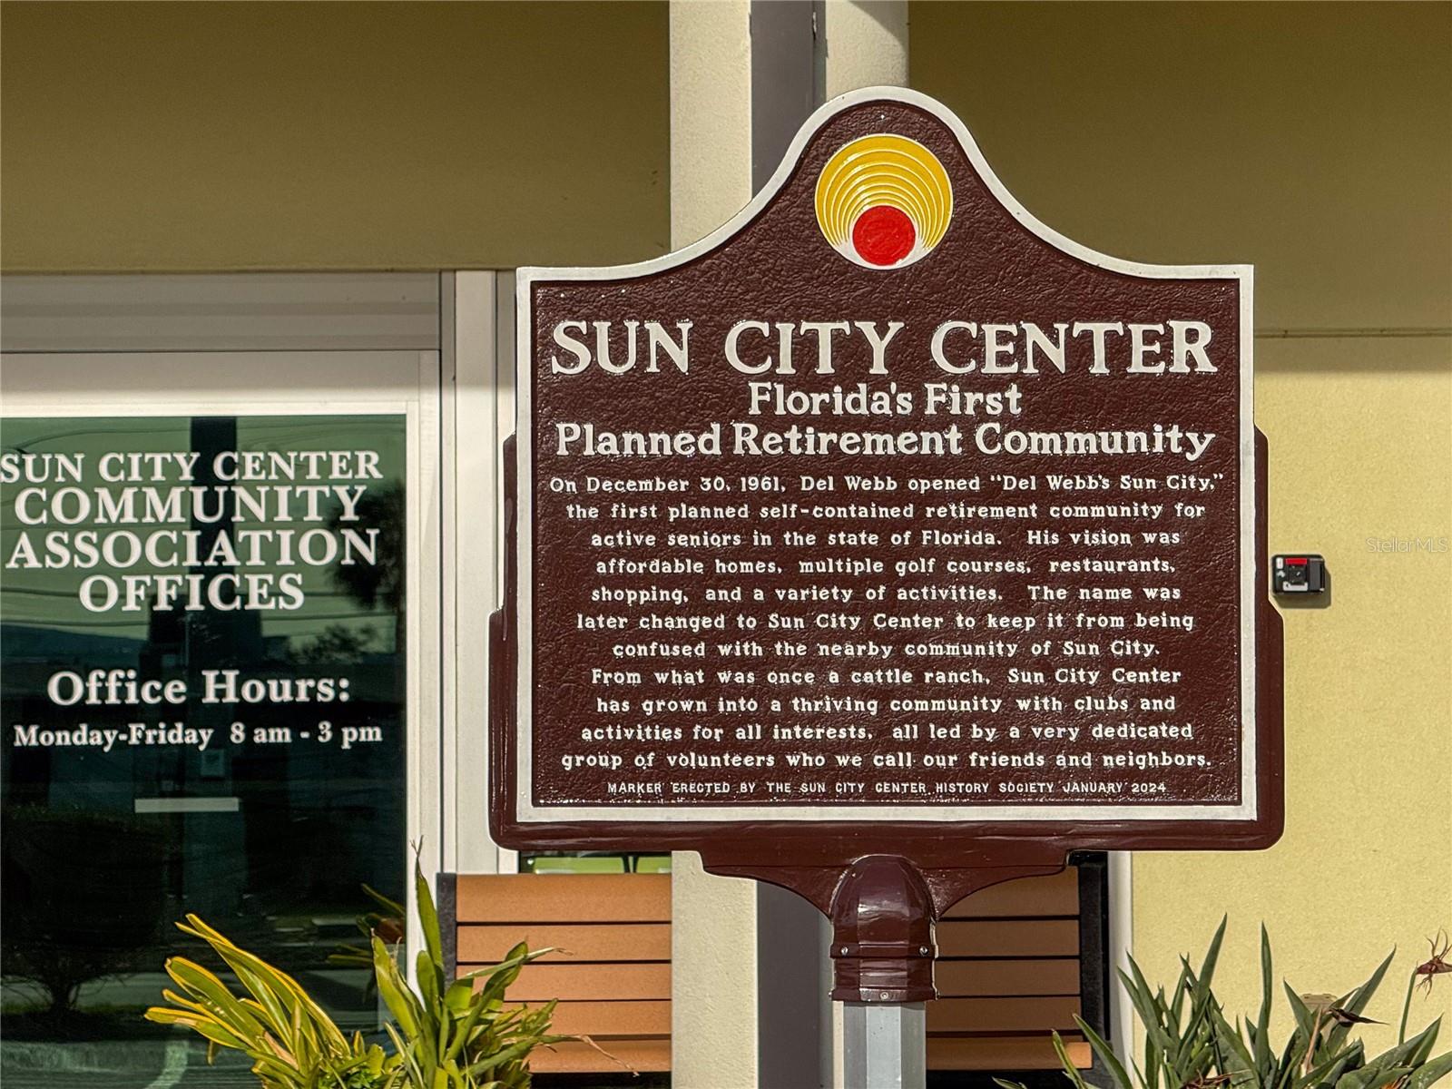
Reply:
[[[1366, 1057], [1361, 1040], [1350, 1038], [1353, 1025], [1369, 1019], [1363, 1011], [1391, 964], [1384, 960], [1363, 984], [1347, 995], [1297, 995], [1284, 984], [1295, 1029], [1281, 1047], [1270, 1041], [1270, 1012], [1275, 984], [1270, 967], [1270, 939], [1260, 928], [1260, 1009], [1255, 1021], [1236, 1018], [1231, 1024], [1215, 998], [1212, 980], [1225, 921], [1221, 919], [1210, 951], [1195, 971], [1180, 958], [1179, 979], [1169, 996], [1165, 987], [1151, 987], [1140, 966], [1130, 960], [1130, 971], [1119, 973], [1135, 1016], [1144, 1028], [1144, 1054], [1125, 1070], [1109, 1044], [1074, 1018], [1095, 1056], [1117, 1089], [1427, 1089], [1452, 1073], [1452, 1051], [1436, 1059], [1440, 1019], [1417, 1035], [1406, 1038], [1406, 1018], [1397, 1045], [1379, 1056]], [[1426, 966], [1413, 970], [1408, 987]], [[1408, 990], [1410, 995], [1410, 990]], [[1064, 1041], [1054, 1034], [1054, 1050], [1064, 1077], [1076, 1089], [1090, 1089], [1069, 1057]], [[1015, 1082], [995, 1079], [1005, 1089], [1022, 1089]]]

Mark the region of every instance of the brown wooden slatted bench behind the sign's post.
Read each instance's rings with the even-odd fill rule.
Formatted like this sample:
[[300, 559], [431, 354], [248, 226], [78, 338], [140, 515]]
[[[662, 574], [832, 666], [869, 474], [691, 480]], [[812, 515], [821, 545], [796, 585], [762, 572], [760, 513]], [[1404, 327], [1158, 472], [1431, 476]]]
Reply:
[[[1054, 1029], [1074, 1063], [1090, 1066], [1073, 1016], [1102, 1025], [1102, 987], [1085, 986], [1086, 967], [1092, 976], [1098, 966], [1080, 957], [1079, 919], [1080, 908], [1102, 918], [1102, 905], [1092, 892], [1101, 886], [1085, 877], [1070, 868], [984, 889], [938, 923], [931, 1070], [1053, 1070]], [[560, 1032], [590, 1035], [640, 1072], [671, 1069], [669, 874], [443, 874], [439, 884], [444, 953], [459, 973], [486, 967], [518, 941], [569, 951], [524, 968], [510, 996], [559, 999]], [[1092, 903], [1082, 903], [1082, 886]], [[531, 1066], [619, 1069], [587, 1044], [543, 1051]]]

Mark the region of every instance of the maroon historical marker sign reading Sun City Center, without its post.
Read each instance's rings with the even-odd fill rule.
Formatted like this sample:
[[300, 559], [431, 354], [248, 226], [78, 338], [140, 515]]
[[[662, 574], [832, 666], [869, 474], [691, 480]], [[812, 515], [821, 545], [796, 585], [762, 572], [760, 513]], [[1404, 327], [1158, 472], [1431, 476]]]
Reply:
[[521, 270], [497, 835], [1273, 839], [1250, 315], [884, 90], [681, 253]]

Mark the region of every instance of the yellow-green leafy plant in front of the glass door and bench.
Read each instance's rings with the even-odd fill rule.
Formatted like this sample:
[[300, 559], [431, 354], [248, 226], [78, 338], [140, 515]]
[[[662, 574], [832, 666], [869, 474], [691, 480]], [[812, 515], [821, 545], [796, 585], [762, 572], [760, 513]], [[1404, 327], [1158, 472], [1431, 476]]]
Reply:
[[[572, 1040], [550, 1035], [555, 1003], [537, 1009], [505, 1006], [505, 990], [529, 961], [550, 950], [523, 942], [492, 968], [449, 980], [439, 915], [420, 867], [418, 887], [424, 948], [418, 951], [414, 990], [389, 947], [372, 935], [375, 980], [395, 1024], [385, 1025], [392, 1050], [346, 1035], [295, 979], [247, 953], [195, 915], [177, 923], [200, 938], [237, 976], [238, 996], [215, 973], [186, 957], [171, 957], [167, 974], [177, 990], [163, 996], [147, 1019], [183, 1025], [216, 1047], [242, 1051], [266, 1089], [524, 1089], [529, 1057], [542, 1045]], [[484, 986], [475, 990], [475, 982]]]

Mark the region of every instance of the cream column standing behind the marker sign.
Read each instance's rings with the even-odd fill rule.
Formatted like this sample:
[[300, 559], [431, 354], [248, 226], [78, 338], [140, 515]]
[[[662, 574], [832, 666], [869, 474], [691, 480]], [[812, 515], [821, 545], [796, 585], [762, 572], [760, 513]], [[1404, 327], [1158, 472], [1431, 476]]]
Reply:
[[[775, 129], [787, 121], [794, 131], [817, 105], [812, 97], [908, 80], [906, 0], [817, 3], [815, 42], [791, 13], [770, 7], [771, 0], [671, 3], [672, 248], [714, 231], [751, 200], [754, 154], [780, 154]], [[758, 35], [772, 35], [756, 49], [754, 22]], [[800, 70], [793, 67], [797, 54]], [[803, 86], [816, 93], [804, 96]], [[775, 110], [794, 116], [778, 118]], [[755, 176], [765, 177], [775, 163], [756, 167]], [[677, 852], [671, 884], [674, 1085], [781, 1089], [765, 1085], [758, 1067], [761, 900], [754, 883], [714, 877], [701, 870], [698, 855]], [[790, 1025], [780, 1029], [791, 1034]], [[832, 1050], [841, 1069], [841, 1048]]]

